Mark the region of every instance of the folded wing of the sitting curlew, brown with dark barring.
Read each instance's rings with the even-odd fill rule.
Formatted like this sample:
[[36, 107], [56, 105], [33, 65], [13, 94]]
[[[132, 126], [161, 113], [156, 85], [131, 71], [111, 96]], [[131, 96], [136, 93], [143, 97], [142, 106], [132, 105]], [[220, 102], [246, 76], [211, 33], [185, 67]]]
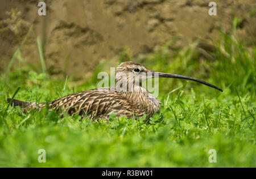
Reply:
[[49, 107], [55, 110], [67, 111], [69, 114], [77, 113], [89, 117], [102, 117], [118, 112], [132, 114], [133, 109], [129, 101], [112, 90], [113, 87], [109, 87], [73, 93], [51, 101]]

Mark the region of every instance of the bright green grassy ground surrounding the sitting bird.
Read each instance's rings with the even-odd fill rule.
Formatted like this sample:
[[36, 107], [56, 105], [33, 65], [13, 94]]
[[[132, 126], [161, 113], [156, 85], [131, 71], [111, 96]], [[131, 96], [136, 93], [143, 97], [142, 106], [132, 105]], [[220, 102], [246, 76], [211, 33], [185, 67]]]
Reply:
[[[162, 108], [150, 124], [115, 116], [96, 123], [47, 110], [23, 114], [6, 102], [18, 87], [15, 99], [40, 102], [95, 88], [98, 71], [109, 70], [107, 63], [81, 86], [72, 77], [53, 80], [31, 66], [1, 74], [0, 167], [256, 167], [256, 48], [222, 34], [211, 54], [215, 60], [199, 61], [195, 44], [174, 53], [168, 50], [172, 43], [141, 62], [155, 71], [204, 79], [224, 92], [160, 79]], [[40, 39], [38, 44], [40, 49]], [[123, 58], [131, 55], [125, 52]], [[17, 52], [15, 60], [24, 59]], [[40, 149], [46, 150], [46, 163], [38, 163]], [[216, 150], [217, 163], [209, 162], [210, 149]]]

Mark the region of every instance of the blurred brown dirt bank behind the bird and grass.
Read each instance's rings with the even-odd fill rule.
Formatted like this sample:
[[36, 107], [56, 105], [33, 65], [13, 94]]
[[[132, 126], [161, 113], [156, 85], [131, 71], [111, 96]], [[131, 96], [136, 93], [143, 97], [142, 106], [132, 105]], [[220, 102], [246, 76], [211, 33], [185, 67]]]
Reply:
[[249, 46], [256, 41], [256, 16], [248, 14], [256, 0], [214, 1], [217, 16], [208, 14], [210, 1], [204, 0], [45, 0], [46, 16], [38, 15], [38, 2], [1, 0], [0, 71], [6, 70], [31, 24], [34, 31], [22, 46], [22, 57], [40, 65], [40, 36], [48, 73], [78, 79], [89, 77], [101, 61], [116, 61], [127, 48], [136, 58], [174, 38], [172, 50], [197, 39], [217, 41], [221, 27], [232, 31], [234, 16], [237, 37]]

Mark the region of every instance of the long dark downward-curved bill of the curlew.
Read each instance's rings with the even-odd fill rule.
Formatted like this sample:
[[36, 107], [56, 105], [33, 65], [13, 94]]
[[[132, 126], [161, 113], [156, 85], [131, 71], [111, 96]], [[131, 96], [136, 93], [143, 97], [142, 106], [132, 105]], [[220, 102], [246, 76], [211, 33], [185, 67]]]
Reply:
[[207, 83], [201, 79], [197, 79], [197, 78], [193, 78], [193, 77], [190, 77], [190, 76], [184, 76], [184, 75], [176, 75], [176, 74], [168, 74], [168, 73], [160, 73], [160, 72], [156, 72], [156, 71], [151, 71], [152, 73], [152, 77], [153, 78], [157, 78], [157, 77], [162, 77], [162, 78], [180, 78], [180, 79], [187, 79], [187, 80], [191, 80], [191, 81], [194, 81], [194, 82], [198, 82], [198, 83], [202, 83], [206, 86], [209, 86], [209, 87], [212, 87], [212, 88], [215, 88], [217, 90], [220, 90], [221, 92], [223, 92], [221, 90], [221, 88], [218, 88], [216, 86], [214, 86], [213, 84], [210, 84], [210, 83]]

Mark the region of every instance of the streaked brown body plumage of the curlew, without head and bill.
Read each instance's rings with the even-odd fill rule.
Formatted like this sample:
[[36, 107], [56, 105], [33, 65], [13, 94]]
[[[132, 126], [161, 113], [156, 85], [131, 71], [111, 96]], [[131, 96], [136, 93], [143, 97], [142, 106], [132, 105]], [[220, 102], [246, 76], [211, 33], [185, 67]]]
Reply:
[[143, 87], [139, 87], [138, 92], [118, 92], [115, 87], [105, 87], [73, 93], [48, 103], [23, 103], [24, 112], [31, 109], [41, 110], [48, 106], [50, 110], [60, 111], [61, 114], [77, 113], [82, 118], [87, 117], [93, 120], [100, 118], [108, 120], [112, 113], [117, 117], [126, 116], [136, 119], [146, 115], [150, 118], [154, 113], [159, 112], [161, 104]]

